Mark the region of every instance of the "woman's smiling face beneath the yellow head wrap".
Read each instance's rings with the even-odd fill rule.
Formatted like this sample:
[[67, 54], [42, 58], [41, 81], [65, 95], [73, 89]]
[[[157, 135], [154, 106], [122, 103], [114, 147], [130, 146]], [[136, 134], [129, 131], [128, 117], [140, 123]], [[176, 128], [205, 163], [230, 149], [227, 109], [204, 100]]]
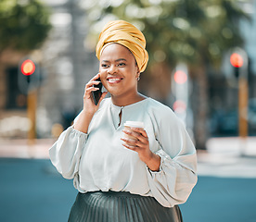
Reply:
[[139, 69], [133, 54], [118, 43], [109, 44], [100, 56], [100, 79], [114, 99], [129, 100], [137, 93]]

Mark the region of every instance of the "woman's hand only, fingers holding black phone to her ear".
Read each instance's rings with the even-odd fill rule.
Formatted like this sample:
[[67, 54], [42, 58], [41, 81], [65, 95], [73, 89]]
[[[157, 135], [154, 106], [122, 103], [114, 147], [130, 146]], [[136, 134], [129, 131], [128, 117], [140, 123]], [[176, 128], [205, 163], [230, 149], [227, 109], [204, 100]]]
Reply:
[[99, 84], [99, 81], [96, 79], [100, 78], [100, 74], [97, 73], [92, 80], [89, 80], [88, 83], [85, 85], [84, 94], [83, 94], [83, 112], [88, 114], [95, 114], [100, 102], [105, 98], [108, 92], [102, 93], [98, 104], [95, 105], [94, 100], [92, 98], [92, 92], [97, 91], [98, 88], [94, 87], [94, 85]]

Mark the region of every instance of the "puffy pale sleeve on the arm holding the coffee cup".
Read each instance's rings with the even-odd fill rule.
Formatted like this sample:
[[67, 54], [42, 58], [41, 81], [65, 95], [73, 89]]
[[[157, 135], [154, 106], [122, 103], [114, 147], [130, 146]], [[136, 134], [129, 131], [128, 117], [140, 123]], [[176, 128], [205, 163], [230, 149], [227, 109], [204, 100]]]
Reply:
[[197, 177], [197, 154], [184, 124], [167, 110], [156, 119], [160, 171], [147, 168], [147, 179], [155, 199], [166, 207], [185, 203]]

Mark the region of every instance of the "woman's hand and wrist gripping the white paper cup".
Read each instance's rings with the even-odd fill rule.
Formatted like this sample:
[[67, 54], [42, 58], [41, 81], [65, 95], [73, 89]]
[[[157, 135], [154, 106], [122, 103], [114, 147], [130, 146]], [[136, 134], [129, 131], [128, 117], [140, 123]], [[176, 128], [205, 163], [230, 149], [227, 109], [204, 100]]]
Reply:
[[127, 149], [137, 152], [139, 158], [146, 163], [152, 171], [159, 171], [160, 156], [150, 151], [146, 130], [131, 128], [131, 130], [123, 129], [123, 132], [128, 136], [134, 137], [134, 139], [122, 138], [121, 140], [124, 142], [122, 145]]

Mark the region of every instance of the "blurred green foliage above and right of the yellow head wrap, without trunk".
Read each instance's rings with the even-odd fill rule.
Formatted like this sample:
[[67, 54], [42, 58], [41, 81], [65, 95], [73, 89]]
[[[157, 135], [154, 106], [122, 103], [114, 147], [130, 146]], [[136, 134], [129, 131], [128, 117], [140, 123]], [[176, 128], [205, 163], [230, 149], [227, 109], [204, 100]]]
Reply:
[[109, 19], [137, 25], [146, 35], [150, 61], [171, 66], [220, 65], [225, 50], [243, 43], [238, 21], [248, 18], [236, 0], [86, 0], [84, 6], [96, 31]]

